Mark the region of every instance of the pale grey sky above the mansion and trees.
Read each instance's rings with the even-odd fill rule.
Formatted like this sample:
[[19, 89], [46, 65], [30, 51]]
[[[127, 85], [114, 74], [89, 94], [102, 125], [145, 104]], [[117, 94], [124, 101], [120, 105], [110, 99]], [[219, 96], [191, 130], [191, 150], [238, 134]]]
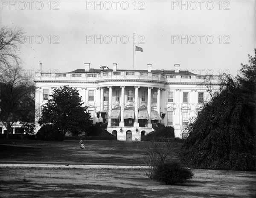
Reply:
[[[25, 32], [30, 72], [180, 69], [236, 76], [256, 48], [256, 1], [0, 1], [0, 26]], [[134, 52], [135, 45], [143, 52]], [[134, 58], [133, 58], [134, 55]], [[134, 64], [133, 64], [134, 62]]]

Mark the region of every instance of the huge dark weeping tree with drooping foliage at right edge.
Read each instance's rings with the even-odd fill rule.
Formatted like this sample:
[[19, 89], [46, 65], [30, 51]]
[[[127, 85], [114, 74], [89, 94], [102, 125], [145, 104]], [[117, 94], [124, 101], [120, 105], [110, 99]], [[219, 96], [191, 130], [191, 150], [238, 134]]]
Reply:
[[[256, 52], [256, 51], [255, 51]], [[202, 169], [256, 169], [256, 53], [237, 82], [228, 77], [219, 96], [205, 103], [188, 126], [180, 160]]]

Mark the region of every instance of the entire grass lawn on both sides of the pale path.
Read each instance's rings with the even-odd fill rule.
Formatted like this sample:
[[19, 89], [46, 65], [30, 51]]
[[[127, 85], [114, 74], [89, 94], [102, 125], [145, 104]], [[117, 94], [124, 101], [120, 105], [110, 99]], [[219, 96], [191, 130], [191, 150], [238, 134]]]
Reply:
[[[14, 141], [14, 140], [13, 140]], [[150, 142], [84, 141], [42, 142], [0, 140], [0, 163], [145, 165]], [[177, 160], [181, 143], [173, 143]], [[256, 172], [192, 170], [182, 185], [166, 186], [150, 180], [143, 169], [79, 169], [43, 167], [0, 168], [2, 198], [254, 198]]]

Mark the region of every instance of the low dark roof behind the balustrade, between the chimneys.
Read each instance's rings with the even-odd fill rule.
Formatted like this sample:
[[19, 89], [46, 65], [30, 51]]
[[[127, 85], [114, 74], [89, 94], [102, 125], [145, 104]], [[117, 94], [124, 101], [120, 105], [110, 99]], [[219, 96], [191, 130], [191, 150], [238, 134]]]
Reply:
[[[89, 71], [85, 71], [84, 69], [76, 69], [72, 72], [68, 73], [100, 73], [101, 71], [103, 72], [113, 72], [113, 69], [93, 69], [91, 68]], [[117, 69], [116, 72], [148, 72], [148, 70], [145, 69]], [[181, 75], [195, 75], [192, 72], [189, 72], [188, 70], [180, 70], [179, 72], [175, 72], [175, 70], [151, 70], [152, 73], [159, 73], [159, 74], [181, 74]]]

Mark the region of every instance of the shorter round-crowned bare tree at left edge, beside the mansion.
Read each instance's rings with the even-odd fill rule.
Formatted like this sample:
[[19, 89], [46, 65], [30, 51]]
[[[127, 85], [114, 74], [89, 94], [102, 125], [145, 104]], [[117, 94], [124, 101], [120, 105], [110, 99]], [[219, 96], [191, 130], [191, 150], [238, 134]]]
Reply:
[[20, 66], [5, 69], [0, 81], [0, 122], [7, 129], [9, 138], [12, 124], [29, 121], [35, 111], [35, 85]]

